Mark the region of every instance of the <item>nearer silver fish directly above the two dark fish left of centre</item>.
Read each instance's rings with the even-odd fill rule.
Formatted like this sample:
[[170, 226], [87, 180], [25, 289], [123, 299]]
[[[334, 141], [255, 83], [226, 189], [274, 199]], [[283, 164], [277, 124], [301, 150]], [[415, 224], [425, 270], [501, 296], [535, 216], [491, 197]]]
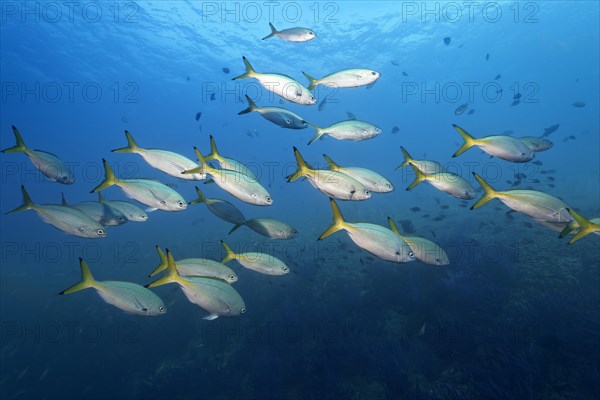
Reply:
[[257, 206], [270, 206], [273, 204], [271, 195], [257, 180], [250, 176], [228, 169], [215, 169], [206, 163], [206, 160], [197, 147], [194, 147], [198, 157], [199, 167], [183, 174], [204, 172], [213, 178], [214, 183], [235, 198]]

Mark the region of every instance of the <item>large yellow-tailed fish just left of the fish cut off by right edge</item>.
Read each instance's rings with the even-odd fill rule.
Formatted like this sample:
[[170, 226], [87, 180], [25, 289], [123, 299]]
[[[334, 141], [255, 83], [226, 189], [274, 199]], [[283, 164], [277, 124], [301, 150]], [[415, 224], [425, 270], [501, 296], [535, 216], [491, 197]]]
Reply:
[[473, 176], [484, 190], [483, 196], [477, 200], [471, 210], [481, 207], [488, 201], [497, 198], [512, 210], [525, 214], [533, 219], [546, 222], [570, 222], [567, 211], [569, 206], [560, 199], [536, 190], [496, 191], [483, 178], [473, 172]]

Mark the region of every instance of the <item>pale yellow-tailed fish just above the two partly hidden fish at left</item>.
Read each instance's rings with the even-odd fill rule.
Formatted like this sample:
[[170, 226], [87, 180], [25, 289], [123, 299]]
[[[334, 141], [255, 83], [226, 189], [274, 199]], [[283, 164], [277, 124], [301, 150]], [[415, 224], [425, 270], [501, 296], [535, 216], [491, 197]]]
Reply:
[[170, 187], [151, 179], [117, 179], [105, 159], [102, 159], [102, 164], [104, 180], [90, 193], [116, 185], [127, 197], [147, 205], [149, 208], [146, 211], [183, 211], [187, 208], [183, 197]]

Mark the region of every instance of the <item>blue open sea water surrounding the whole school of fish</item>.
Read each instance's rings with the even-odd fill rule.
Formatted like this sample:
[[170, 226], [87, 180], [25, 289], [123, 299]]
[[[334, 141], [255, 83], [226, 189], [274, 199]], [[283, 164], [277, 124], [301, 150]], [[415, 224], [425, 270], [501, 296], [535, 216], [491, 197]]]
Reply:
[[[589, 399], [600, 393], [598, 237], [568, 245], [524, 215], [507, 215], [498, 200], [470, 211], [474, 200], [425, 183], [407, 192], [414, 174], [394, 170], [404, 146], [476, 188], [471, 171], [503, 190], [521, 173], [518, 188], [560, 196], [584, 216], [598, 216], [596, 2], [474, 3], [471, 10], [437, 2], [0, 5], [0, 147], [14, 145], [15, 125], [28, 146], [57, 154], [76, 177], [74, 185], [51, 182], [24, 154], [2, 154], [2, 214], [21, 203], [20, 185], [36, 203], [59, 203], [61, 192], [73, 203], [95, 200], [89, 192], [102, 180], [102, 158], [120, 176], [161, 180], [191, 201], [195, 182], [110, 150], [125, 145], [129, 130], [142, 147], [195, 159], [193, 146], [208, 153], [213, 134], [223, 155], [258, 174], [274, 203], [252, 206], [216, 185], [196, 184], [247, 218], [279, 218], [299, 232], [288, 241], [244, 227], [228, 235], [231, 225], [204, 205], [150, 213], [145, 223], [109, 227], [101, 240], [68, 236], [32, 211], [3, 215], [0, 397]], [[262, 41], [270, 21], [278, 29], [310, 27], [317, 38]], [[254, 79], [232, 81], [244, 72], [242, 56], [258, 72], [302, 83], [301, 71], [321, 77], [369, 68], [382, 76], [369, 89], [318, 87], [319, 102], [329, 96], [318, 111], [280, 104]], [[511, 106], [517, 93], [521, 101]], [[257, 113], [238, 116], [247, 107], [244, 94], [320, 126], [351, 112], [383, 133], [307, 146], [310, 127], [286, 130]], [[464, 103], [475, 112], [456, 115]], [[539, 136], [560, 127], [547, 137], [554, 147], [537, 154], [538, 165], [490, 159], [478, 149], [452, 158], [461, 141], [452, 124], [477, 137]], [[393, 192], [339, 201], [344, 217], [410, 221], [415, 234], [446, 249], [451, 264], [381, 261], [343, 232], [317, 242], [331, 210], [307, 181], [286, 183], [295, 169], [293, 146], [313, 165], [323, 166], [326, 153], [342, 166], [386, 176]], [[126, 199], [116, 187], [103, 192]], [[247, 306], [243, 316], [206, 321], [175, 285], [154, 290], [168, 307], [155, 318], [125, 314], [92, 290], [57, 295], [79, 279], [79, 257], [99, 280], [146, 284], [158, 263], [156, 244], [176, 258], [220, 260], [220, 240], [272, 253], [292, 271], [269, 277], [230, 263]]]

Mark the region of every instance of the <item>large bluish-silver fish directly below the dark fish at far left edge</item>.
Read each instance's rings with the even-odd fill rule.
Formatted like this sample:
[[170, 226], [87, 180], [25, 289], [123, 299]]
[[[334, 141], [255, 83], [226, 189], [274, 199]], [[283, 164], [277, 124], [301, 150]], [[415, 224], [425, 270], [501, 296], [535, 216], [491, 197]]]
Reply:
[[106, 236], [104, 226], [77, 209], [58, 204], [34, 204], [24, 185], [21, 185], [21, 194], [23, 203], [6, 214], [33, 210], [42, 221], [70, 235], [88, 239], [100, 239]]

